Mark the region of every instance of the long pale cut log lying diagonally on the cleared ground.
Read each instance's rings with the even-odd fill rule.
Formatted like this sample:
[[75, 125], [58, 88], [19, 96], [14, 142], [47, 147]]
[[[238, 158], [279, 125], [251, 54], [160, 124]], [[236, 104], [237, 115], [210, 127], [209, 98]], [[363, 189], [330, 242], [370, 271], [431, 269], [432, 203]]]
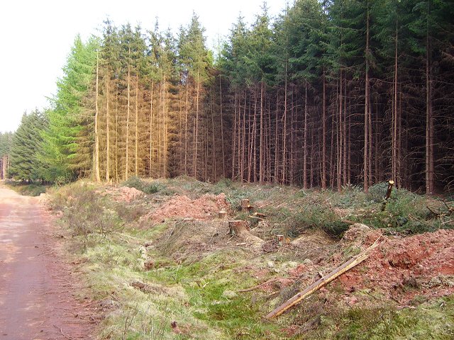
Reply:
[[294, 295], [294, 297], [287, 300], [279, 307], [275, 308], [275, 310], [272, 310], [272, 312], [267, 314], [266, 318], [271, 319], [272, 317], [279, 316], [289, 308], [293, 307], [294, 305], [297, 305], [297, 303], [303, 300], [304, 297], [311, 295], [311, 293], [314, 293], [316, 290], [322, 288], [323, 285], [327, 285], [332, 280], [338, 278], [338, 276], [341, 276], [343, 273], [349, 271], [351, 268], [358, 266], [358, 264], [360, 264], [362, 261], [364, 261], [370, 256], [370, 251], [372, 251], [372, 249], [375, 249], [375, 247], [378, 246], [377, 242], [379, 239], [380, 237], [377, 239], [377, 241], [374, 242], [374, 244], [372, 244], [372, 246], [367, 248], [365, 251], [362, 251], [362, 253], [358, 254], [358, 256], [355, 256], [353, 257], [353, 259], [350, 259], [349, 261], [343, 263], [342, 266], [339, 266], [338, 268], [334, 269], [333, 271], [331, 271], [331, 273], [327, 274], [326, 276], [323, 276], [323, 278], [317, 280], [315, 283], [312, 283], [311, 285], [309, 285], [308, 288], [298, 293], [297, 295]]

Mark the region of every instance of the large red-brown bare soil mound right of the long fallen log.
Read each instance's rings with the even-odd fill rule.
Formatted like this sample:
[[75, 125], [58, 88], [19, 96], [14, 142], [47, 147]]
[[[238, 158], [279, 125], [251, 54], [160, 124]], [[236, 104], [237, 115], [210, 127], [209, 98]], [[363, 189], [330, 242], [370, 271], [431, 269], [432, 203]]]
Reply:
[[350, 291], [369, 288], [408, 302], [454, 293], [454, 230], [385, 239], [364, 263], [341, 276]]

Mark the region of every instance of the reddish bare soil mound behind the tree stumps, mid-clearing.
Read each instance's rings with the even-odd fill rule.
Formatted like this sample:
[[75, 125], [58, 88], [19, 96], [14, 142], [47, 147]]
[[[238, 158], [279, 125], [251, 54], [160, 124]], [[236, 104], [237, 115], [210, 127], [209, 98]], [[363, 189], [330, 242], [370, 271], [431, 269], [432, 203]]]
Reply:
[[186, 217], [194, 220], [211, 220], [219, 210], [229, 210], [226, 195], [204, 195], [192, 200], [187, 196], [174, 196], [145, 216], [146, 220], [160, 222], [166, 218]]

